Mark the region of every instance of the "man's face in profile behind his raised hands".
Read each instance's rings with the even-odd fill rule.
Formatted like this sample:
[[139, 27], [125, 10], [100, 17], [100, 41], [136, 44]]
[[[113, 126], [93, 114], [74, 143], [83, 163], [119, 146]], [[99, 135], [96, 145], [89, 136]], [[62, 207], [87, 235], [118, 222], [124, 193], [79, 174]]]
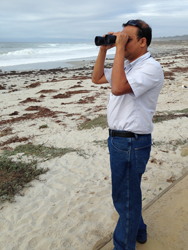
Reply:
[[138, 41], [137, 30], [138, 28], [135, 26], [126, 26], [123, 29], [123, 31], [129, 36], [129, 40], [125, 45], [125, 58], [130, 62], [142, 55], [141, 39]]

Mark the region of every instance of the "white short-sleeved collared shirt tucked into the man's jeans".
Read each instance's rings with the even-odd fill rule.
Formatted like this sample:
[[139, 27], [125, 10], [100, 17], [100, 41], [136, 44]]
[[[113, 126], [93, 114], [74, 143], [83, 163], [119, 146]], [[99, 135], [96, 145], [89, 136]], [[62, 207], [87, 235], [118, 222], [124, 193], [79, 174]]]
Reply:
[[[131, 63], [126, 60], [124, 67], [133, 93], [121, 96], [110, 93], [107, 107], [109, 128], [150, 134], [153, 131], [152, 118], [164, 82], [163, 70], [150, 52]], [[112, 69], [105, 69], [104, 74], [111, 85]]]

